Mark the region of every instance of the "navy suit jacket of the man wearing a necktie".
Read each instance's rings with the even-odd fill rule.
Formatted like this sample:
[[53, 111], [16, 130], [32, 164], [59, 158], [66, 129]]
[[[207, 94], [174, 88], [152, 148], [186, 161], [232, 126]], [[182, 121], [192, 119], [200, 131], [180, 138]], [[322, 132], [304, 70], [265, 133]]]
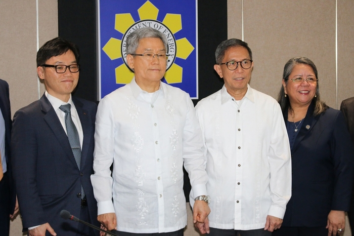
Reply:
[[14, 115], [12, 163], [24, 230], [49, 222], [58, 235], [76, 235], [78, 222], [62, 219], [60, 211], [80, 216], [81, 198], [77, 194], [81, 184], [91, 222], [99, 226], [90, 179], [97, 105], [72, 100], [83, 130], [80, 171], [58, 115], [45, 95]]

